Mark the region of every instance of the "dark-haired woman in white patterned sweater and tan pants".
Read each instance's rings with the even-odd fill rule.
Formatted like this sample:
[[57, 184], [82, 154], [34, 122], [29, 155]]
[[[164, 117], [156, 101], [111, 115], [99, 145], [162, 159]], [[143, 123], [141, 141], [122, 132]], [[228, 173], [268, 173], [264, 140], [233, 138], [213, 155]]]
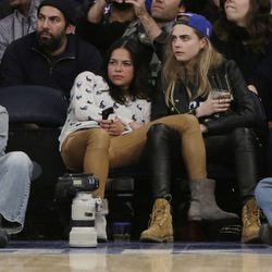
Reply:
[[[139, 53], [134, 41], [126, 38], [116, 41], [106, 60], [107, 82], [84, 72], [76, 77], [71, 90], [67, 118], [60, 136], [61, 156], [70, 170], [94, 173], [99, 178], [99, 188], [92, 195], [102, 199], [109, 169], [138, 163], [144, 154], [147, 132], [156, 123], [165, 123], [178, 133], [190, 180], [195, 184], [201, 182], [203, 186], [209, 183], [203, 139], [196, 118], [178, 114], [149, 122], [150, 102], [145, 95], [147, 79]], [[106, 116], [103, 113], [110, 109], [112, 113]], [[235, 217], [219, 209], [213, 190], [206, 191], [206, 196], [208, 200], [205, 202], [200, 199], [194, 203], [196, 217]], [[107, 200], [102, 203], [95, 226], [98, 239], [107, 240]], [[172, 226], [170, 217], [168, 220]], [[166, 239], [173, 239], [172, 228]]]

